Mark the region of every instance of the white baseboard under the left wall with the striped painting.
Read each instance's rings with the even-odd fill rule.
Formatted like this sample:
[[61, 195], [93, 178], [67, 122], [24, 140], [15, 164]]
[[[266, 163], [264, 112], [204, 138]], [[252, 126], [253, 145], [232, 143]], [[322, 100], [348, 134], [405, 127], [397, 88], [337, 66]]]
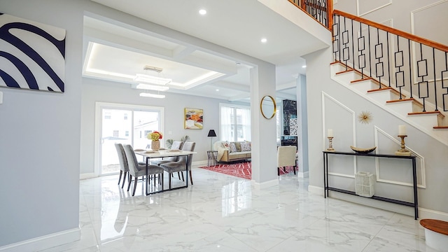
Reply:
[[22, 252], [22, 251], [41, 251], [44, 249], [68, 244], [72, 241], [80, 239], [80, 228], [73, 228], [62, 232], [57, 232], [51, 235], [44, 235], [26, 241], [20, 241], [15, 244], [9, 244], [0, 247], [0, 251], [5, 252]]

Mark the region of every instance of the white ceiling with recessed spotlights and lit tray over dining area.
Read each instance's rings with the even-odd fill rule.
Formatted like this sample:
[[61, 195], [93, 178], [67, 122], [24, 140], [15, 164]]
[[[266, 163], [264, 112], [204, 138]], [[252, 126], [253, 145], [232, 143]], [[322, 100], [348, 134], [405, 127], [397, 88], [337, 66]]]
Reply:
[[[326, 46], [255, 0], [92, 1], [276, 64], [276, 96], [280, 99], [295, 99], [295, 78], [306, 73], [300, 55]], [[206, 15], [199, 14], [202, 8]], [[250, 96], [251, 66], [235, 57], [107, 19], [86, 16], [84, 22], [83, 75], [87, 78], [134, 88], [138, 84], [135, 75], [144, 73], [171, 78], [167, 95], [181, 92], [230, 101]], [[261, 38], [267, 38], [267, 43]], [[144, 66], [162, 71], [144, 70]]]

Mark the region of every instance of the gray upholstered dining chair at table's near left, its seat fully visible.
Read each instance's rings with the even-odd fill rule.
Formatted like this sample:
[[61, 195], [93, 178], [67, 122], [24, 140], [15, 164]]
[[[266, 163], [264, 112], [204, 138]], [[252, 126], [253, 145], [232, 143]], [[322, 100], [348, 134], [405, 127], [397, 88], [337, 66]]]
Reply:
[[[127, 190], [129, 191], [131, 187], [132, 176], [134, 176], [134, 190], [132, 190], [132, 196], [134, 196], [139, 176], [144, 177], [146, 175], [146, 164], [140, 165], [139, 162], [137, 162], [137, 157], [135, 156], [134, 149], [130, 144], [126, 144], [125, 146], [123, 146], [123, 148], [125, 149], [130, 174]], [[162, 190], [163, 190], [163, 169], [158, 167], [157, 165], [148, 165], [148, 175], [154, 175], [154, 174], [160, 174], [159, 178], [161, 180], [159, 181], [162, 184]], [[146, 180], [147, 180], [146, 183], [149, 183], [148, 177], [146, 178]]]

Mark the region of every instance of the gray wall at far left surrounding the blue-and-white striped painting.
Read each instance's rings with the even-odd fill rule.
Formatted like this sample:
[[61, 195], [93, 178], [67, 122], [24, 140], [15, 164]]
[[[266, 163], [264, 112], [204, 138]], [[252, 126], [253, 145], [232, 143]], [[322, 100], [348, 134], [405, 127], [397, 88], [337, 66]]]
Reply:
[[0, 1], [2, 13], [66, 29], [64, 93], [1, 90], [0, 248], [78, 232], [83, 2]]

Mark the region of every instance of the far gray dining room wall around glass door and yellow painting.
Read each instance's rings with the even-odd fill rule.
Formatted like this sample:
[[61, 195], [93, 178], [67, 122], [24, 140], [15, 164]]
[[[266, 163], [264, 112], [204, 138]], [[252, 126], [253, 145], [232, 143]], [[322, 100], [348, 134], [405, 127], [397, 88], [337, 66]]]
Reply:
[[[217, 137], [220, 136], [219, 103], [238, 104], [250, 106], [241, 102], [228, 102], [226, 100], [197, 97], [192, 95], [165, 92], [165, 99], [140, 97], [141, 90], [132, 89], [129, 84], [113, 83], [106, 80], [83, 78], [82, 108], [81, 108], [81, 147], [80, 147], [80, 173], [94, 173], [94, 109], [95, 102], [111, 102], [118, 104], [134, 104], [145, 106], [161, 106], [165, 109], [165, 129], [163, 144], [166, 139], [181, 140], [185, 135], [190, 141], [195, 141], [193, 162], [206, 161], [207, 151], [210, 149], [209, 130], [213, 129]], [[184, 108], [204, 109], [204, 129], [186, 130], [183, 128]], [[168, 132], [172, 132], [169, 135]], [[116, 155], [116, 153], [111, 153]]]

